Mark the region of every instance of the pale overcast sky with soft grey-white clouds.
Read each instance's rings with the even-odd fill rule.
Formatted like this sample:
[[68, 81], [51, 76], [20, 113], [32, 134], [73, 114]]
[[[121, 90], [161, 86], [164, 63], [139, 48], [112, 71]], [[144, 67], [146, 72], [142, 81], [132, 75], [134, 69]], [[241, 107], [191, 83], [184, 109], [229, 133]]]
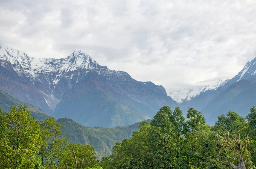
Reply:
[[169, 92], [232, 78], [256, 57], [255, 0], [0, 0], [0, 44], [75, 50]]

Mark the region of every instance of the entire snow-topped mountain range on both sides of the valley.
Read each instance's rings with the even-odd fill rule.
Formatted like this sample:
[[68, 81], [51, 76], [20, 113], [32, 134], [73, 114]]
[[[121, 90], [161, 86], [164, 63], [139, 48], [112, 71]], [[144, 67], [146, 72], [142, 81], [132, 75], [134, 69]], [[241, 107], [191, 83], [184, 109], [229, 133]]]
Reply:
[[84, 126], [130, 125], [152, 118], [161, 106], [179, 106], [184, 115], [193, 107], [213, 124], [228, 109], [245, 116], [256, 106], [255, 63], [256, 58], [248, 61], [231, 79], [172, 91], [170, 97], [163, 86], [108, 69], [81, 51], [39, 59], [0, 46], [0, 90], [56, 119], [67, 117]]

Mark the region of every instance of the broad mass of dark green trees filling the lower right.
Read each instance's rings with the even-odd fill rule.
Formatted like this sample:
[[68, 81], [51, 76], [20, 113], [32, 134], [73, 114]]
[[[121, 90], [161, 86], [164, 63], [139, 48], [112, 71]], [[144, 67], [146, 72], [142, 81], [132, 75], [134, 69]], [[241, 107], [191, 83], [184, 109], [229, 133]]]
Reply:
[[247, 169], [255, 166], [256, 108], [244, 117], [228, 111], [208, 126], [201, 112], [163, 106], [150, 125], [141, 123], [130, 139], [113, 146], [102, 158], [104, 169], [224, 169], [243, 158]]

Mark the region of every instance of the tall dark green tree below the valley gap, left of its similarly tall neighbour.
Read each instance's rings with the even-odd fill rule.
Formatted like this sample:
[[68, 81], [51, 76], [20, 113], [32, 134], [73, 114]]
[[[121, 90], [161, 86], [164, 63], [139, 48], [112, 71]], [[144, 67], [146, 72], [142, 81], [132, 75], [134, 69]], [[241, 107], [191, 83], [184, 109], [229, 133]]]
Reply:
[[153, 168], [171, 169], [177, 164], [180, 132], [174, 124], [180, 120], [175, 118], [175, 115], [170, 107], [163, 106], [151, 120], [148, 136], [149, 149], [154, 160]]

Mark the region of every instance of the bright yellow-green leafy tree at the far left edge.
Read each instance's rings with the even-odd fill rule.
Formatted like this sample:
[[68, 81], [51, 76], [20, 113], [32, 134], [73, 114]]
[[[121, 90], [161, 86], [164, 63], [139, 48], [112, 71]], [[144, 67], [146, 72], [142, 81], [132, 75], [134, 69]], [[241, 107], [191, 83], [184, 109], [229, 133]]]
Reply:
[[13, 106], [0, 112], [0, 168], [30, 169], [40, 165], [35, 154], [42, 144], [41, 129], [26, 106]]

